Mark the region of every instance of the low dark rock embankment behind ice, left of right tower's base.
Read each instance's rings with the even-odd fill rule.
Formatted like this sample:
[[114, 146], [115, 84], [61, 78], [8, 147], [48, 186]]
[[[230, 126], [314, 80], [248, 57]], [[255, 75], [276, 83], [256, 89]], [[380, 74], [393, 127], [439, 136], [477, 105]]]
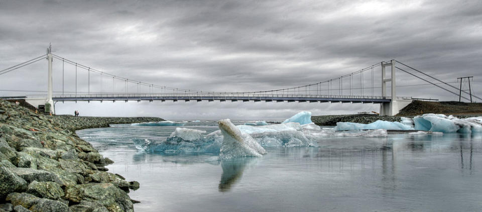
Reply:
[[319, 126], [335, 126], [337, 122], [354, 122], [360, 124], [370, 124], [372, 122], [382, 120], [390, 122], [400, 122], [400, 117], [378, 116], [378, 115], [330, 115], [330, 116], [312, 116], [311, 121]]

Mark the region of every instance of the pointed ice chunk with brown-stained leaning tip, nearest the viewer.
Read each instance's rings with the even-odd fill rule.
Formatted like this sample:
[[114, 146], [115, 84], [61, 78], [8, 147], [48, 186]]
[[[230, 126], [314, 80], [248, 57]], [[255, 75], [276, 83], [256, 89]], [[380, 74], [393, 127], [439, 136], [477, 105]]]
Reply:
[[223, 135], [219, 159], [234, 157], [261, 157], [266, 150], [253, 137], [242, 133], [229, 119], [218, 121]]

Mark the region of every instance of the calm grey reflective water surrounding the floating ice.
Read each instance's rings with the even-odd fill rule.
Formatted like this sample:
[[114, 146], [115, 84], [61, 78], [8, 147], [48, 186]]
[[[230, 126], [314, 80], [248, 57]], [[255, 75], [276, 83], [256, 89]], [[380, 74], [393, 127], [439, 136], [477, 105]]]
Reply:
[[[239, 124], [239, 123], [234, 123]], [[217, 130], [215, 122], [187, 128]], [[481, 135], [326, 138], [319, 147], [267, 148], [262, 158], [139, 152], [176, 127], [87, 129], [77, 134], [141, 188], [136, 211], [480, 211]]]

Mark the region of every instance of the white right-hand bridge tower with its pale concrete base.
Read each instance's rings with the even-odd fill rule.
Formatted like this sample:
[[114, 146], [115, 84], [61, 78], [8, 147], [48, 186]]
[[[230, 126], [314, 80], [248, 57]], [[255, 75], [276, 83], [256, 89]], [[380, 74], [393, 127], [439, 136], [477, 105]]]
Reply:
[[[380, 104], [380, 116], [395, 116], [398, 112], [412, 102], [412, 99], [397, 99], [397, 83], [395, 72], [395, 60], [390, 62], [382, 62], [382, 96], [387, 96], [387, 82], [391, 82], [391, 98], [390, 102]], [[390, 67], [392, 73], [390, 78], [386, 78], [386, 67]]]

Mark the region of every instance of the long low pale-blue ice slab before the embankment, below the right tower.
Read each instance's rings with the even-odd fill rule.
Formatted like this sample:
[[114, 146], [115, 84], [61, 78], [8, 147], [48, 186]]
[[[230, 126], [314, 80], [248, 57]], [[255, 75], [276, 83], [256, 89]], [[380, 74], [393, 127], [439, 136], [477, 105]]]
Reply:
[[376, 129], [385, 129], [385, 130], [413, 130], [412, 126], [402, 124], [400, 122], [388, 122], [378, 120], [376, 122], [370, 124], [359, 124], [359, 123], [352, 123], [352, 122], [337, 122], [336, 127], [334, 128], [335, 131], [342, 131], [342, 130], [376, 130]]

